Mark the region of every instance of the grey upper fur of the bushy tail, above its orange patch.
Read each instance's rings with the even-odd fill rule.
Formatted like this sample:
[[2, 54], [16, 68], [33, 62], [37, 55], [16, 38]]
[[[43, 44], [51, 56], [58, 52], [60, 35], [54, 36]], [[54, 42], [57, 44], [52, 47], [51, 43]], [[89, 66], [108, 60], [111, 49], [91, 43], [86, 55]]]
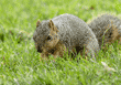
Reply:
[[119, 34], [121, 34], [121, 20], [113, 15], [103, 14], [91, 21], [88, 25], [96, 34], [100, 47], [102, 45], [102, 36], [106, 35], [107, 29], [107, 40], [110, 40], [111, 38], [110, 34], [112, 33], [112, 25], [114, 25], [118, 29]]

